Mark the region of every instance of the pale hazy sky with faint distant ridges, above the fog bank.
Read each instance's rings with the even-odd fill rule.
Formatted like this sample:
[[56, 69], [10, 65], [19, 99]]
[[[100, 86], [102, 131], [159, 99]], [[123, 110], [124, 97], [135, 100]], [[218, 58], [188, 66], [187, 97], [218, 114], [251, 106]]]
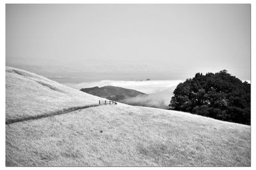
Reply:
[[77, 82], [250, 80], [250, 4], [7, 4], [6, 65]]

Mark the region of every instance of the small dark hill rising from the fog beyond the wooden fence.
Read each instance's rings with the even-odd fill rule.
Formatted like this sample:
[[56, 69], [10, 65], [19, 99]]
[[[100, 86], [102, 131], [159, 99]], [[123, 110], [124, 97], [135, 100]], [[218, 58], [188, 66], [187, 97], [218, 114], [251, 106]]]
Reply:
[[104, 86], [104, 87], [92, 87], [81, 89], [82, 92], [92, 94], [94, 96], [103, 97], [111, 101], [123, 101], [129, 97], [137, 97], [147, 95], [143, 92], [138, 92], [132, 89], [125, 89], [122, 87], [115, 86]]

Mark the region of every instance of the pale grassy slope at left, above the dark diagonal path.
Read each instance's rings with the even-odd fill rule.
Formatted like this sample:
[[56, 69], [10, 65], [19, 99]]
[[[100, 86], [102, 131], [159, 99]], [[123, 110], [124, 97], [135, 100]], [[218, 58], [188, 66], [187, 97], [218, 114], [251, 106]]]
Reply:
[[73, 106], [90, 106], [99, 99], [37, 74], [6, 67], [6, 122]]

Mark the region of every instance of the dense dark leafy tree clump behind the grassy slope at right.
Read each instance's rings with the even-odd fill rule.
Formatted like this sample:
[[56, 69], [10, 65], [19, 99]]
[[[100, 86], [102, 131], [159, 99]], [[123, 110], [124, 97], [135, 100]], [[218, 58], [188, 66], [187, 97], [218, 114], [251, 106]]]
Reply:
[[227, 70], [196, 73], [194, 78], [179, 83], [173, 94], [169, 105], [172, 110], [250, 125], [251, 85]]

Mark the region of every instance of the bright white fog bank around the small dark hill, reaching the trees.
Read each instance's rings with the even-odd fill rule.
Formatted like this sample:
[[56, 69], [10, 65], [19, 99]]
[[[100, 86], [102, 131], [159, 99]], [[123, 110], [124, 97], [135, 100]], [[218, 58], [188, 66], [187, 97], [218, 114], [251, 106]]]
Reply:
[[124, 99], [122, 102], [134, 106], [147, 106], [154, 108], [168, 109], [173, 90], [182, 80], [150, 80], [150, 81], [116, 81], [116, 80], [102, 80], [94, 82], [84, 82], [72, 85], [75, 89], [89, 88], [89, 87], [104, 87], [112, 85], [116, 87], [123, 87], [125, 89], [138, 90], [146, 95], [130, 97]]

